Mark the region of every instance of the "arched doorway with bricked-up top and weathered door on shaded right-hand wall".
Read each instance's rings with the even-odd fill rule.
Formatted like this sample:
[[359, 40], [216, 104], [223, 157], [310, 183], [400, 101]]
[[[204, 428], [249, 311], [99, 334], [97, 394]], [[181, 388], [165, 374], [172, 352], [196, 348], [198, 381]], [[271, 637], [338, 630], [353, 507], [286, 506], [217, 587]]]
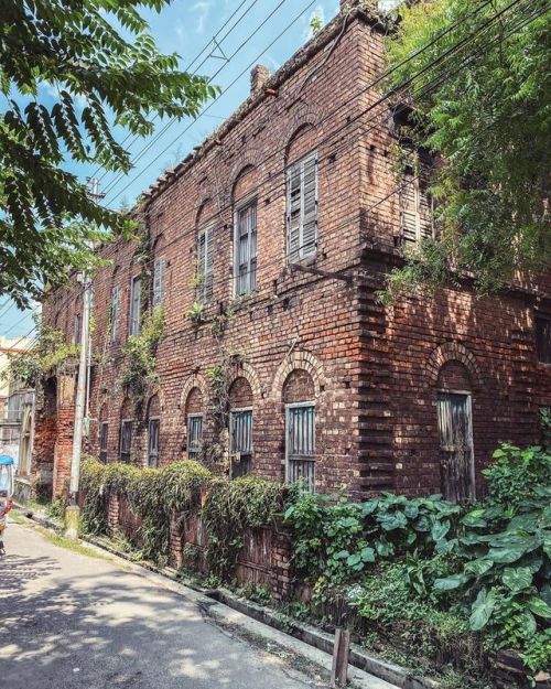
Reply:
[[442, 493], [449, 500], [463, 503], [475, 498], [469, 373], [451, 359], [440, 368], [436, 386]]

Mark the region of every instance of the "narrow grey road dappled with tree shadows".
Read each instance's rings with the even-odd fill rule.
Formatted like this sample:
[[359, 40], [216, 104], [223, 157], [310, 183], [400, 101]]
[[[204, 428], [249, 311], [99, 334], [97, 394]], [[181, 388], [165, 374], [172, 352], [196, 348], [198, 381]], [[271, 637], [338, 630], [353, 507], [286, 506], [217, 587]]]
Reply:
[[11, 523], [0, 559], [7, 689], [306, 689], [279, 658], [116, 562]]

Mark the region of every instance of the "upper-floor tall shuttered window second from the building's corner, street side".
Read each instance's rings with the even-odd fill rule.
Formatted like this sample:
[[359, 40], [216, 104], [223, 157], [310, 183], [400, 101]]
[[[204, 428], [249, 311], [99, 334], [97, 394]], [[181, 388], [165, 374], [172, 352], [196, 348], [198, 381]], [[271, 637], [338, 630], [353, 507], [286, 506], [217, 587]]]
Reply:
[[257, 200], [241, 205], [235, 216], [236, 294], [247, 294], [257, 287]]

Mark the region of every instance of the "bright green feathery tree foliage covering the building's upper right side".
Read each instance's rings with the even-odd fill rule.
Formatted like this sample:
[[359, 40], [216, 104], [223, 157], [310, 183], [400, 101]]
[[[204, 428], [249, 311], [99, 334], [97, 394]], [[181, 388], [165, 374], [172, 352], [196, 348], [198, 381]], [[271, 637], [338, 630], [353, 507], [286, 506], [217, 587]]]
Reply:
[[390, 85], [408, 136], [434, 154], [439, 233], [395, 270], [388, 295], [468, 276], [490, 293], [551, 265], [551, 13], [547, 0], [401, 6]]

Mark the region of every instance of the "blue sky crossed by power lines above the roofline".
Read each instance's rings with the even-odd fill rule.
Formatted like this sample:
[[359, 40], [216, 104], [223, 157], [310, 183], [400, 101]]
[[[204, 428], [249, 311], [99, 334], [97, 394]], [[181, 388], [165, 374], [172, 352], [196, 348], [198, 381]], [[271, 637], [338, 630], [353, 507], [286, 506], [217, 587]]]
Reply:
[[[161, 14], [144, 13], [160, 50], [176, 52], [182, 68], [191, 65], [191, 72], [198, 68], [198, 74], [213, 76], [213, 84], [223, 94], [195, 121], [171, 123], [147, 152], [148, 140], [127, 141], [136, 168], [125, 179], [94, 166], [67, 164], [67, 169], [83, 181], [97, 174], [107, 205], [131, 204], [166, 166], [185, 158], [247, 98], [251, 63], [276, 71], [310, 37], [312, 17], [320, 17], [325, 24], [338, 6], [338, 0], [173, 0]], [[44, 85], [44, 105], [51, 106], [54, 97], [55, 90]], [[160, 122], [156, 132], [165, 125], [166, 120]], [[125, 131], [117, 131], [119, 141], [125, 137]], [[32, 325], [31, 313], [22, 313], [0, 297], [0, 335], [20, 337]]]

